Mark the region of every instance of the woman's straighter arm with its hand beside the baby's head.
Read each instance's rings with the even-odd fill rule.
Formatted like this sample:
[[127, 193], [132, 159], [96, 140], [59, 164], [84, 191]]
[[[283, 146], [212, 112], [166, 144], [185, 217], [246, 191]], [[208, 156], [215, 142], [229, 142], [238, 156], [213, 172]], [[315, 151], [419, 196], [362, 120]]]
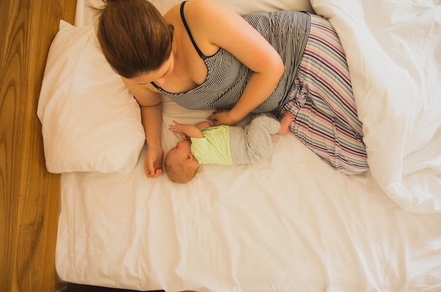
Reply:
[[147, 141], [147, 155], [144, 172], [154, 178], [163, 174], [163, 148], [161, 142], [162, 99], [157, 92], [151, 91], [132, 80], [123, 78], [126, 87], [132, 92], [141, 109], [141, 121]]

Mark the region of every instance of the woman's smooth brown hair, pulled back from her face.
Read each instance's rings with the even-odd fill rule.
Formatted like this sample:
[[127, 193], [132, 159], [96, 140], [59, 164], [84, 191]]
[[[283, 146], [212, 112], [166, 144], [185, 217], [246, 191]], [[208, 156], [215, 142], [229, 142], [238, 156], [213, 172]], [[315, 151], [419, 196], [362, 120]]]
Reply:
[[156, 70], [170, 57], [173, 25], [146, 0], [103, 0], [97, 38], [118, 75], [132, 78]]

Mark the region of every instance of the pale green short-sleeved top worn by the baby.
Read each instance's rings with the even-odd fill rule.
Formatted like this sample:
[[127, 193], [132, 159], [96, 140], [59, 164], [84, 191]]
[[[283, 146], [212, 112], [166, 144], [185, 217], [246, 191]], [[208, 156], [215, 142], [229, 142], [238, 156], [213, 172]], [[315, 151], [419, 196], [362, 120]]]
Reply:
[[232, 165], [230, 127], [226, 125], [201, 129], [204, 138], [190, 138], [192, 153], [200, 164]]

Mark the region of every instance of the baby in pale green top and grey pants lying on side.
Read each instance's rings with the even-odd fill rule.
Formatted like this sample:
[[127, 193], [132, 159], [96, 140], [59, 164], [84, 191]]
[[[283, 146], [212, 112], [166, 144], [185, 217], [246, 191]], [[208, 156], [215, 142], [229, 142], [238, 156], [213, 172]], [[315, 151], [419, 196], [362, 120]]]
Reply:
[[267, 115], [258, 115], [246, 127], [217, 126], [209, 122], [196, 125], [173, 120], [170, 131], [180, 134], [182, 141], [171, 148], [164, 166], [171, 181], [185, 184], [201, 164], [233, 165], [266, 160], [273, 150], [271, 135], [287, 134], [294, 120], [286, 112], [280, 122]]

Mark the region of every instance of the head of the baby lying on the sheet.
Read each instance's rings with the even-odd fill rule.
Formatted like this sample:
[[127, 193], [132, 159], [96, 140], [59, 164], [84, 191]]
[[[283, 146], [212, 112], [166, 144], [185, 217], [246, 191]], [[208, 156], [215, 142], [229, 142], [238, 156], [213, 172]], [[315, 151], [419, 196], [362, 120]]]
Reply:
[[190, 182], [199, 168], [199, 163], [194, 158], [190, 140], [179, 141], [171, 148], [164, 160], [164, 167], [168, 178], [172, 182], [185, 184]]

